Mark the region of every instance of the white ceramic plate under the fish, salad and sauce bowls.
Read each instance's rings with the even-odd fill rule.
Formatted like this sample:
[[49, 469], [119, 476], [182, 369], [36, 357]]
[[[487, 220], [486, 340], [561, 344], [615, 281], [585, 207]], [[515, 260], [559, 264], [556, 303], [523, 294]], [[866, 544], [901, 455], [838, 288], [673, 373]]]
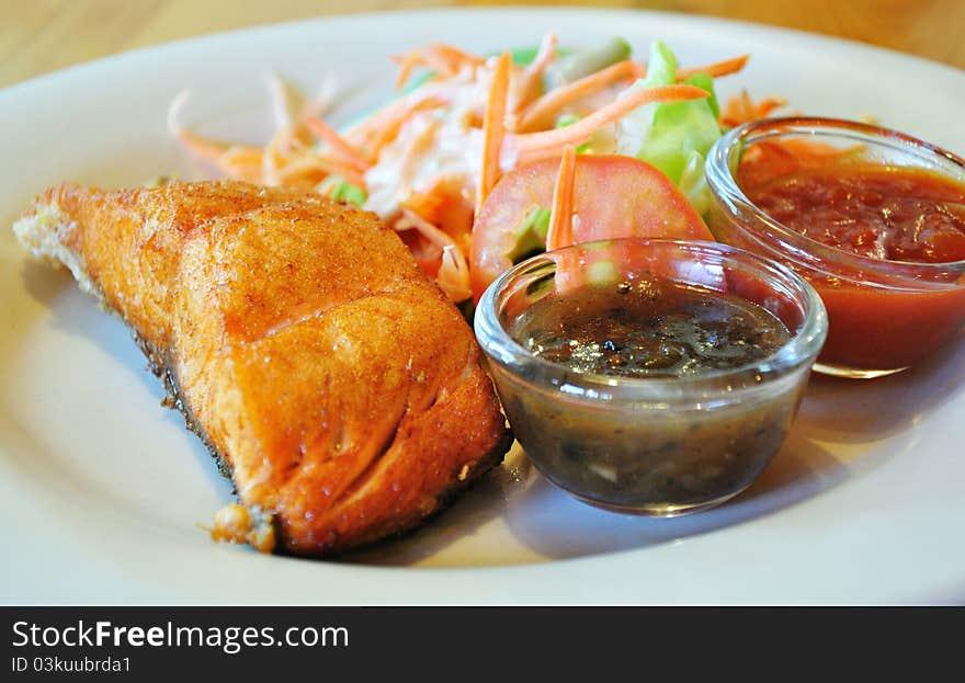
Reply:
[[[720, 82], [808, 114], [872, 114], [965, 150], [965, 75], [854, 44], [643, 12], [359, 15], [122, 55], [0, 92], [0, 510], [4, 602], [886, 603], [965, 600], [965, 344], [875, 382], [815, 377], [773, 465], [743, 496], [677, 520], [570, 500], [519, 453], [418, 533], [347, 561], [216, 545], [196, 524], [230, 500], [179, 414], [159, 407], [123, 326], [70, 277], [29, 263], [9, 226], [64, 179], [139, 184], [198, 170], [164, 132], [257, 141], [264, 77], [344, 87], [341, 115], [386, 98], [387, 57], [444, 38], [478, 52], [622, 35], [686, 65], [750, 52]], [[883, 321], [883, 323], [885, 323]], [[960, 342], [962, 339], [960, 338]]]

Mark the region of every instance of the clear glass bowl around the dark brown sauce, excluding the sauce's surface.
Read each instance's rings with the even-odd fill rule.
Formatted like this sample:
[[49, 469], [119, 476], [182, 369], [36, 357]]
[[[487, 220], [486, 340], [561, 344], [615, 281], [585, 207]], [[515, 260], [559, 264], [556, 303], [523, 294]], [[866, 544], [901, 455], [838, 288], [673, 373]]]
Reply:
[[[633, 285], [666, 277], [726, 292], [774, 314], [791, 332], [752, 364], [685, 376], [577, 373], [541, 358], [512, 323], [574, 281]], [[621, 239], [534, 257], [483, 295], [476, 337], [516, 440], [552, 482], [590, 504], [673, 516], [746, 489], [787, 434], [827, 321], [817, 293], [790, 269], [703, 241]]]

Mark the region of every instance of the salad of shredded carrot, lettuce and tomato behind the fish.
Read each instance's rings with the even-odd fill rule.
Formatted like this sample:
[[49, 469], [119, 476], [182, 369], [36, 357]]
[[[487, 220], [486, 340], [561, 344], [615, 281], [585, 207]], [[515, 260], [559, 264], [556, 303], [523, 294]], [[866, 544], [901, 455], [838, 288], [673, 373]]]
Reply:
[[783, 101], [745, 92], [722, 109], [717, 78], [748, 56], [682, 68], [662, 42], [646, 62], [614, 38], [568, 50], [483, 57], [443, 43], [394, 58], [397, 95], [337, 129], [323, 99], [292, 111], [272, 93], [280, 125], [263, 146], [171, 134], [237, 180], [291, 185], [377, 213], [456, 303], [481, 295], [513, 263], [593, 239], [713, 239], [703, 220], [704, 159], [729, 127]]

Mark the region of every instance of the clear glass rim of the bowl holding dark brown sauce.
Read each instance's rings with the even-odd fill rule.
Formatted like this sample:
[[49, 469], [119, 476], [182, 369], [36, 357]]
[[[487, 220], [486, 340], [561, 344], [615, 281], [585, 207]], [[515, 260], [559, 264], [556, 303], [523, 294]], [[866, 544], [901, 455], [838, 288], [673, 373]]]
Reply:
[[[803, 301], [803, 321], [792, 338], [774, 353], [748, 365], [725, 369], [709, 371], [685, 377], [624, 377], [618, 375], [601, 375], [593, 373], [574, 373], [567, 366], [543, 360], [514, 340], [499, 322], [500, 297], [518, 277], [525, 275], [541, 262], [550, 263], [553, 258], [546, 253], [537, 254], [500, 275], [492, 282], [476, 307], [474, 327], [479, 345], [486, 354], [502, 367], [515, 375], [530, 369], [527, 375], [548, 379], [550, 385], [566, 382], [590, 389], [594, 400], [671, 400], [673, 398], [697, 398], [702, 390], [708, 395], [719, 394], [723, 385], [731, 386], [728, 402], [739, 400], [747, 391], [769, 390], [767, 379], [775, 375], [790, 374], [795, 368], [813, 363], [824, 345], [828, 332], [827, 312], [820, 296], [810, 284], [790, 267], [760, 257], [750, 251], [731, 247], [723, 242], [703, 240], [673, 240], [657, 238], [624, 238], [618, 240], [600, 240], [566, 247], [553, 253], [567, 250], [599, 248], [623, 241], [636, 241], [644, 244], [673, 247], [678, 250], [709, 252], [722, 257], [725, 261], [740, 260], [758, 271], [762, 280], [771, 282], [777, 278], [790, 288], [796, 298]], [[797, 303], [795, 303], [797, 305]], [[529, 377], [522, 378], [533, 384]], [[557, 385], [558, 386], [558, 385]], [[582, 398], [588, 398], [583, 396]]]

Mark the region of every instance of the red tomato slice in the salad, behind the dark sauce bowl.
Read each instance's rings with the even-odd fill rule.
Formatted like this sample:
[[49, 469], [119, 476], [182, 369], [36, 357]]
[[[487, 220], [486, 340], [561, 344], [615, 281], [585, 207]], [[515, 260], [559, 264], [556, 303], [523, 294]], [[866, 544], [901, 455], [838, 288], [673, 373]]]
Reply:
[[[476, 300], [512, 267], [520, 228], [535, 208], [549, 208], [558, 159], [521, 166], [503, 175], [473, 226], [470, 270]], [[616, 155], [577, 157], [574, 182], [575, 242], [624, 237], [713, 240], [700, 214], [656, 168]]]

